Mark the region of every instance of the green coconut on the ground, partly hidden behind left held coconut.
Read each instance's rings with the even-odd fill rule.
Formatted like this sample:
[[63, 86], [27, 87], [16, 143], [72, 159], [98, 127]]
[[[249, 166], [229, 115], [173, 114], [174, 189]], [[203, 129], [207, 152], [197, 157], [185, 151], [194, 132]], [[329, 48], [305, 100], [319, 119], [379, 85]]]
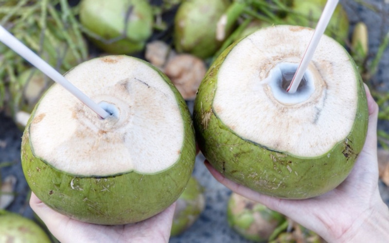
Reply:
[[186, 185], [185, 191], [177, 200], [174, 212], [171, 236], [182, 234], [192, 226], [205, 208], [205, 197], [203, 187], [195, 177], [191, 177]]

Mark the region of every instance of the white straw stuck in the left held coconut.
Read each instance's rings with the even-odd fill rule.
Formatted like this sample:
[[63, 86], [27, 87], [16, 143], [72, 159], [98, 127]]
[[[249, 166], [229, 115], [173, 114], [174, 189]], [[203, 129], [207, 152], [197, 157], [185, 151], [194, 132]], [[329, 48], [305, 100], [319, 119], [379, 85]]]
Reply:
[[75, 87], [71, 82], [69, 82], [64, 76], [62, 76], [57, 70], [53, 69], [47, 62], [42, 58], [36, 55], [23, 43], [21, 43], [15, 36], [11, 35], [7, 30], [5, 30], [0, 25], [0, 41], [6, 46], [11, 48], [14, 52], [18, 53], [21, 57], [26, 59], [37, 69], [41, 70], [44, 74], [50, 77], [53, 81], [62, 85], [66, 88], [71, 94], [78, 98], [81, 102], [86, 104], [90, 109], [96, 112], [100, 117], [105, 119], [109, 114], [99, 105], [94, 103], [88, 96], [86, 96], [81, 90]]

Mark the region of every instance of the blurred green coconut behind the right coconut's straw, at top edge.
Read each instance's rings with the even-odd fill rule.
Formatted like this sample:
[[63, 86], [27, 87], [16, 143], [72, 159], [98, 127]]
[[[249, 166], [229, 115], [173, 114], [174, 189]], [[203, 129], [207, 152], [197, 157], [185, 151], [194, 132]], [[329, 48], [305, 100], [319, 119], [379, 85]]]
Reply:
[[[292, 13], [286, 17], [286, 22], [295, 25], [315, 28], [323, 12], [327, 0], [291, 0]], [[349, 39], [349, 18], [341, 4], [336, 6], [334, 14], [326, 28], [325, 34], [345, 45]]]

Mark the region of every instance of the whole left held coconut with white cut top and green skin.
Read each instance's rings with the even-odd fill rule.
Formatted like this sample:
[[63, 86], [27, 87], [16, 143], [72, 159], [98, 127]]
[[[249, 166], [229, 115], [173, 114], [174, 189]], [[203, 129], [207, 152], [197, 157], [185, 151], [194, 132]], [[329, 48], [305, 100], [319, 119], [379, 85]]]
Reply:
[[49, 207], [95, 224], [147, 219], [184, 191], [195, 163], [189, 110], [168, 78], [137, 58], [105, 56], [65, 77], [111, 116], [54, 84], [22, 138], [26, 180]]

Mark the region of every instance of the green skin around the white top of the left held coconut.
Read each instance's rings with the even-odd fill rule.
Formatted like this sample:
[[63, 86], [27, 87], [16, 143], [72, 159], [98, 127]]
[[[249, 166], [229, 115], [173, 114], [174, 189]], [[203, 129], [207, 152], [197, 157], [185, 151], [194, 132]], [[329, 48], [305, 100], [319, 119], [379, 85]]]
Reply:
[[86, 177], [59, 171], [49, 161], [34, 155], [33, 144], [29, 139], [30, 124], [36, 107], [44, 99], [43, 95], [23, 133], [21, 163], [31, 190], [46, 205], [83, 222], [122, 225], [158, 214], [174, 203], [184, 191], [195, 164], [195, 134], [191, 115], [184, 99], [166, 75], [146, 64], [157, 70], [169, 84], [180, 107], [185, 134], [177, 162], [156, 174], [133, 171], [104, 177]]

